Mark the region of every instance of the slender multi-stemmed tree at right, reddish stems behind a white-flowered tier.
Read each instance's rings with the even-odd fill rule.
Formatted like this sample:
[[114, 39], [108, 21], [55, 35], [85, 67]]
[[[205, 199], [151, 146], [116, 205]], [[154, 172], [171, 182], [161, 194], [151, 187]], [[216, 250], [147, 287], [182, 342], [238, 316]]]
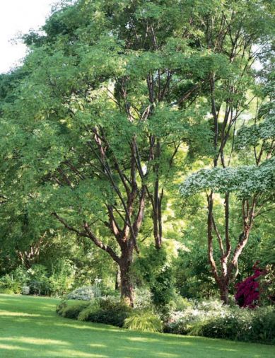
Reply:
[[[270, 190], [274, 189], [274, 161], [270, 159], [274, 155], [272, 112], [264, 115], [265, 120], [261, 123], [263, 112], [258, 111], [257, 105], [254, 124], [241, 129], [238, 133], [239, 144], [242, 142], [240, 147], [244, 149], [245, 141], [249, 141], [258, 131], [257, 139], [253, 143], [247, 143], [252, 149], [250, 153], [254, 152], [254, 166], [238, 167], [243, 161], [241, 156], [238, 156], [240, 147], [235, 145], [242, 114], [257, 97], [257, 91], [254, 96], [248, 96], [247, 92], [250, 89], [253, 93], [256, 88], [252, 65], [255, 59], [259, 58], [259, 49], [264, 50], [265, 54], [271, 52], [270, 8], [267, 5], [267, 17], [264, 19], [259, 17], [262, 5], [262, 2], [257, 1], [247, 1], [245, 4], [242, 1], [235, 1], [233, 6], [220, 4], [223, 10], [219, 11], [221, 8], [217, 7], [216, 11], [208, 14], [201, 24], [205, 31], [204, 45], [209, 51], [223, 54], [226, 59], [225, 69], [228, 69], [228, 72], [218, 74], [213, 71], [206, 81], [209, 112], [213, 124], [213, 169], [200, 171], [187, 178], [182, 185], [182, 195], [206, 190], [209, 262], [221, 293], [221, 300], [226, 304], [229, 284], [238, 275], [238, 258], [247, 244], [254, 218], [260, 214], [263, 207], [269, 207], [273, 195]], [[269, 91], [267, 100], [272, 98], [270, 94]], [[264, 138], [259, 128], [266, 125], [270, 125], [272, 129]], [[245, 135], [242, 136], [244, 132]], [[263, 163], [264, 160], [267, 162]], [[250, 157], [249, 163], [253, 164], [253, 158]], [[230, 229], [233, 193], [240, 200], [242, 226], [235, 246]], [[221, 198], [224, 200], [222, 233], [218, 224], [218, 214], [215, 212], [216, 202], [220, 202]], [[216, 237], [221, 253], [218, 258], [219, 267], [213, 255], [213, 237]]]

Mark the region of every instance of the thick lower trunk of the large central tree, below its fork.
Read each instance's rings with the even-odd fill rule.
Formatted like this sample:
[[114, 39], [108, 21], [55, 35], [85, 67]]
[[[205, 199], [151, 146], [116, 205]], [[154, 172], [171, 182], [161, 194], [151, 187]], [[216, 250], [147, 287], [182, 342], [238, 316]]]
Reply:
[[[126, 243], [126, 246], [129, 243]], [[120, 291], [121, 298], [127, 305], [134, 306], [134, 289], [131, 280], [131, 264], [133, 262], [133, 247], [126, 247], [122, 250], [122, 257], [119, 262], [120, 269]]]

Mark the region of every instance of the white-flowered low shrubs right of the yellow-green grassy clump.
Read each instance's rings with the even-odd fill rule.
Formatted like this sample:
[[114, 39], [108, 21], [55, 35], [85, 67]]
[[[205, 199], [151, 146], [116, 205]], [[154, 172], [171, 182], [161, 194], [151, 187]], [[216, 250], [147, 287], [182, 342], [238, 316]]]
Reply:
[[271, 306], [239, 308], [219, 301], [194, 302], [164, 317], [164, 332], [275, 344], [275, 311]]

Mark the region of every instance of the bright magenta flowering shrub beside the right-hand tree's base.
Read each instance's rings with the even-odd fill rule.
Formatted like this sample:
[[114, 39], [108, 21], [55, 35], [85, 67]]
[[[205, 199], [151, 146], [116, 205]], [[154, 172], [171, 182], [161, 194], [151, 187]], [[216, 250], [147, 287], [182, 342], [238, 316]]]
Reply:
[[237, 293], [235, 300], [240, 307], [255, 308], [260, 298], [259, 278], [266, 274], [265, 270], [259, 269], [258, 262], [254, 265], [254, 275], [236, 284]]

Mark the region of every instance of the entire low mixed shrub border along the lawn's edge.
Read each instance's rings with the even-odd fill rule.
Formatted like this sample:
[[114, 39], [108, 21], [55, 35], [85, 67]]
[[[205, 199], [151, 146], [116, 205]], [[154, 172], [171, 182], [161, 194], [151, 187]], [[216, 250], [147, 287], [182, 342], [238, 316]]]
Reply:
[[91, 301], [62, 301], [59, 316], [105, 323], [129, 330], [199, 335], [245, 342], [275, 344], [273, 306], [239, 308], [221, 301], [183, 301], [174, 310], [158, 316], [153, 310], [130, 308], [112, 296]]

